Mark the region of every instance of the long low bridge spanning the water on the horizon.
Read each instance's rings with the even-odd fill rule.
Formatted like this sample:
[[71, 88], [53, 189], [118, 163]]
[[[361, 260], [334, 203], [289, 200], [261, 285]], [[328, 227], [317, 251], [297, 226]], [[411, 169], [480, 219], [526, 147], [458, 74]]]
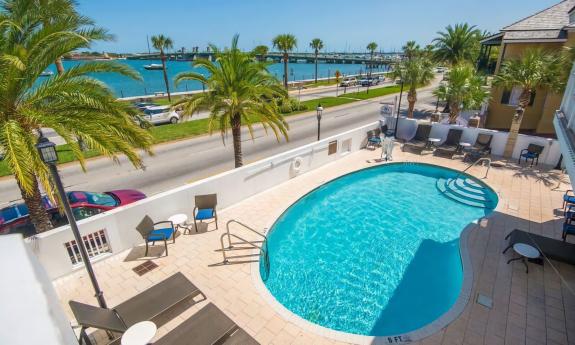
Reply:
[[[208, 59], [213, 60], [213, 52], [176, 52], [166, 54], [169, 60], [175, 61], [194, 61], [197, 59]], [[258, 56], [258, 58], [262, 58]], [[283, 61], [283, 53], [281, 52], [270, 52], [265, 55], [267, 60], [274, 62]], [[330, 63], [330, 64], [363, 64], [363, 65], [373, 65], [382, 66], [389, 65], [397, 62], [403, 58], [402, 53], [375, 53], [373, 60], [371, 56], [366, 53], [321, 53], [318, 55], [318, 62], [320, 63]], [[159, 60], [159, 53], [151, 54], [137, 54], [127, 57], [128, 60]], [[315, 55], [314, 53], [291, 53], [289, 54], [289, 63], [314, 63]]]

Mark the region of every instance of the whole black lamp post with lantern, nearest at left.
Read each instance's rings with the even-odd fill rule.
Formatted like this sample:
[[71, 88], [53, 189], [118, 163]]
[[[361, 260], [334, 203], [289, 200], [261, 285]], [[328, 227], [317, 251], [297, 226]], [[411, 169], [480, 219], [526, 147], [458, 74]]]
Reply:
[[64, 207], [64, 212], [66, 213], [66, 217], [68, 218], [68, 222], [70, 223], [70, 228], [72, 229], [72, 233], [74, 234], [74, 238], [76, 239], [76, 244], [78, 245], [78, 249], [80, 250], [80, 255], [82, 256], [82, 261], [84, 262], [84, 266], [86, 267], [86, 271], [88, 271], [88, 276], [90, 277], [90, 281], [92, 282], [92, 286], [94, 287], [94, 291], [96, 293], [96, 299], [98, 300], [98, 304], [102, 308], [108, 308], [106, 305], [106, 300], [104, 300], [104, 293], [100, 290], [100, 286], [98, 285], [98, 281], [96, 280], [96, 275], [94, 274], [94, 270], [92, 269], [92, 264], [90, 263], [90, 258], [88, 257], [88, 253], [86, 252], [86, 248], [84, 247], [84, 242], [82, 241], [82, 236], [80, 235], [80, 231], [78, 230], [78, 224], [76, 224], [76, 219], [74, 219], [74, 214], [72, 213], [72, 208], [70, 207], [70, 203], [68, 202], [68, 197], [66, 196], [66, 191], [64, 190], [64, 185], [62, 184], [62, 180], [60, 179], [60, 174], [58, 174], [58, 168], [56, 167], [56, 163], [58, 162], [58, 153], [56, 152], [56, 144], [48, 140], [46, 137], [40, 137], [38, 139], [38, 143], [36, 144], [36, 148], [40, 153], [40, 158], [42, 161], [48, 165], [50, 168], [50, 173], [52, 173], [52, 179], [54, 179], [54, 184], [56, 184], [56, 189], [58, 191], [58, 195], [60, 196], [60, 201], [62, 202], [62, 206]]

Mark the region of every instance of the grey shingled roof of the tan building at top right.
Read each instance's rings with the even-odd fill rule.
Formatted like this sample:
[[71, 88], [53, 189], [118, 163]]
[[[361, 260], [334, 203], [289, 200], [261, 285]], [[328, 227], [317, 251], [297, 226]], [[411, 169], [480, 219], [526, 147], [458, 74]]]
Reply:
[[[575, 27], [575, 23], [569, 23], [569, 13], [574, 9], [575, 0], [563, 0], [501, 29], [501, 33], [504, 34], [503, 40], [508, 42], [566, 40], [565, 29]], [[484, 41], [488, 43], [489, 38]]]

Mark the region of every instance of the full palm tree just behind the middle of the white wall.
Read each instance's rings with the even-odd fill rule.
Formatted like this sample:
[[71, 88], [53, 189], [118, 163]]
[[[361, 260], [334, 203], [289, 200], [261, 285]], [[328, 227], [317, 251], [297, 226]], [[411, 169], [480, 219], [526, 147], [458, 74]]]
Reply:
[[270, 128], [278, 141], [280, 134], [288, 138], [288, 124], [274, 101], [287, 98], [287, 91], [268, 72], [268, 64], [254, 61], [250, 54], [239, 50], [238, 38], [238, 35], [234, 36], [231, 48], [224, 51], [212, 46], [215, 62], [206, 59], [193, 62], [194, 67], [206, 69], [209, 76], [185, 72], [176, 77], [176, 85], [185, 80], [197, 80], [210, 91], [192, 95], [174, 105], [190, 116], [197, 109], [208, 108], [209, 132], [219, 129], [224, 143], [228, 128], [231, 128], [236, 168], [243, 165], [242, 125], [247, 126], [252, 139], [252, 126], [258, 122], [266, 131]]

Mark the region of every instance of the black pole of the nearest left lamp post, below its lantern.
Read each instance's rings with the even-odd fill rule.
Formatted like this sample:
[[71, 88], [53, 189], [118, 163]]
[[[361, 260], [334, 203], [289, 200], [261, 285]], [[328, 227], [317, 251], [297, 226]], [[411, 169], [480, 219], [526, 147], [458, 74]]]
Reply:
[[60, 195], [62, 206], [64, 206], [64, 213], [66, 213], [66, 217], [68, 218], [68, 222], [70, 223], [70, 228], [72, 229], [72, 233], [74, 234], [74, 238], [76, 239], [76, 244], [78, 245], [78, 249], [80, 250], [82, 261], [84, 262], [84, 266], [86, 267], [86, 271], [88, 271], [88, 276], [90, 277], [90, 281], [92, 282], [92, 286], [94, 287], [94, 292], [96, 293], [95, 296], [96, 299], [98, 300], [98, 304], [102, 308], [108, 308], [108, 306], [106, 305], [106, 300], [104, 299], [104, 292], [100, 290], [100, 285], [98, 285], [96, 275], [94, 274], [94, 270], [92, 269], [92, 263], [90, 262], [90, 258], [88, 257], [88, 253], [86, 252], [86, 248], [84, 247], [84, 242], [82, 241], [82, 236], [80, 235], [80, 231], [78, 230], [78, 224], [76, 224], [74, 213], [72, 213], [72, 208], [70, 207], [70, 203], [68, 202], [68, 198], [66, 197], [66, 191], [64, 190], [64, 185], [62, 185], [60, 174], [58, 174], [58, 168], [56, 167], [55, 164], [48, 164], [48, 166], [50, 167], [50, 172], [52, 173], [54, 184], [56, 185], [56, 189], [58, 190], [58, 194]]

